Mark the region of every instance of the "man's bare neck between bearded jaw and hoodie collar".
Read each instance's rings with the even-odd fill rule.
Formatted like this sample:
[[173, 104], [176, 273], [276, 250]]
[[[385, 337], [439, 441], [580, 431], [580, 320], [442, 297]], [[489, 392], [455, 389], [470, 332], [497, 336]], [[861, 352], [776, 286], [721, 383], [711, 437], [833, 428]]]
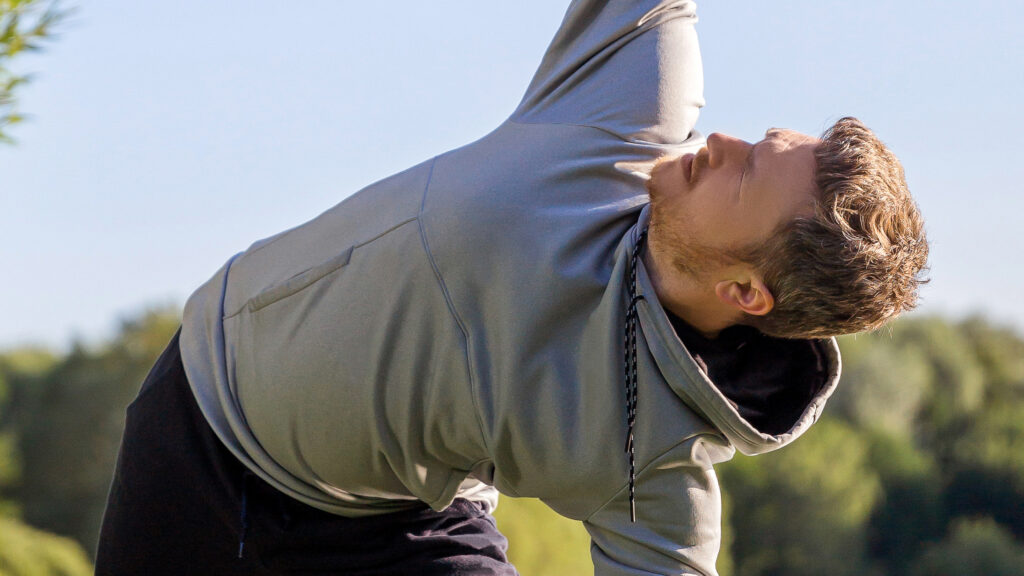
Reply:
[[676, 315], [708, 338], [737, 323], [733, 314], [718, 296], [710, 282], [700, 282], [689, 274], [674, 271], [667, 257], [657, 257], [650, 246], [643, 252], [654, 292], [662, 307]]

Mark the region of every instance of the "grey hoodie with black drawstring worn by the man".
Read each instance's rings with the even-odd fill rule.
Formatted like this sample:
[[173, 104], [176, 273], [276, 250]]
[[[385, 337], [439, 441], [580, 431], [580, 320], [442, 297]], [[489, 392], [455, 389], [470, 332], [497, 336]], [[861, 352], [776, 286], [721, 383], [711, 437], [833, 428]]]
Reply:
[[[218, 437], [262, 479], [347, 517], [497, 493], [580, 520], [598, 574], [715, 574], [713, 464], [791, 442], [746, 421], [658, 304], [642, 262], [637, 522], [624, 377], [644, 180], [693, 152], [693, 2], [573, 2], [495, 131], [232, 257], [188, 300], [181, 353]], [[757, 367], [753, 367], [757, 373]]]

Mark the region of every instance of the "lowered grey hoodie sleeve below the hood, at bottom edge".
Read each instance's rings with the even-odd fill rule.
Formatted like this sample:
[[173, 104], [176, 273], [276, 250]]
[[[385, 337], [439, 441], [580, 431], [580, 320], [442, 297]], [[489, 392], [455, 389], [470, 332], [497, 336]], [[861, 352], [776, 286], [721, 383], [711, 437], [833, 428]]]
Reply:
[[719, 444], [692, 438], [647, 464], [636, 480], [636, 523], [628, 488], [584, 521], [596, 576], [717, 576], [722, 505], [709, 448]]

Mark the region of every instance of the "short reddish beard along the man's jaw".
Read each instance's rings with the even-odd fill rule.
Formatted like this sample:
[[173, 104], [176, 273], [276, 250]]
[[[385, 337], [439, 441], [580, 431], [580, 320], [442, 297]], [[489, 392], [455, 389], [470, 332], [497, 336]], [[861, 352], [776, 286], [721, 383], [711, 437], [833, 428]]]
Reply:
[[[670, 159], [662, 158], [657, 165]], [[647, 246], [652, 253], [669, 254], [669, 261], [679, 272], [702, 281], [723, 266], [733, 264], [739, 258], [730, 251], [709, 246], [693, 238], [689, 214], [678, 207], [670, 210], [668, 194], [658, 189], [654, 178], [648, 178], [647, 195], [650, 197], [650, 224], [647, 232]]]

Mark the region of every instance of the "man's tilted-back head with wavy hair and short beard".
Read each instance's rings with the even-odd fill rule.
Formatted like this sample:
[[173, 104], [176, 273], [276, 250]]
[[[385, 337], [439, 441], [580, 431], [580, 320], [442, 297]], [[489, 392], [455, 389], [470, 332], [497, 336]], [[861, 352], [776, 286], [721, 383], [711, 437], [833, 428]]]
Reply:
[[820, 139], [712, 134], [696, 155], [659, 162], [648, 191], [658, 297], [698, 328], [825, 337], [915, 304], [923, 220], [899, 161], [854, 118]]

